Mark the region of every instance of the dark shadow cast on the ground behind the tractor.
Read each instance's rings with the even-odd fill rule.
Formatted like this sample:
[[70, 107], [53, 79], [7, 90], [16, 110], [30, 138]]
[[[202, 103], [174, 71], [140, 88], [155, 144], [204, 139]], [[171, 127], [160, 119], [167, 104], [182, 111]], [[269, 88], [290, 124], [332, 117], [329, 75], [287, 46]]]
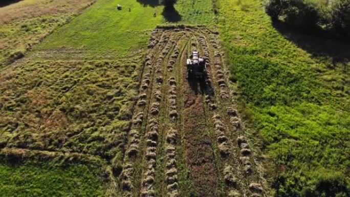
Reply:
[[215, 92], [211, 85], [211, 82], [209, 81], [208, 73], [204, 72], [203, 78], [196, 79], [193, 75], [188, 76], [188, 84], [191, 88], [191, 90], [195, 93], [195, 95], [201, 94], [201, 95], [209, 95], [214, 96]]

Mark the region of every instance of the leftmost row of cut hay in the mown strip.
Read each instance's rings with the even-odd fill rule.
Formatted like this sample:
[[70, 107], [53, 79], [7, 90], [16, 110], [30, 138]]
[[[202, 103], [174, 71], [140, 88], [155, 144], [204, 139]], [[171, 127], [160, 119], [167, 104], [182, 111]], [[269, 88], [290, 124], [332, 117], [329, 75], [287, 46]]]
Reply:
[[[159, 38], [162, 40], [160, 41]], [[153, 45], [151, 48], [161, 49], [167, 43], [167, 37], [163, 37], [163, 34], [159, 31], [154, 31], [150, 39]], [[148, 54], [144, 62], [144, 69], [142, 72], [142, 78], [140, 82], [139, 96], [137, 105], [135, 106], [134, 116], [132, 120], [132, 126], [128, 136], [128, 146], [125, 151], [123, 170], [120, 175], [121, 189], [125, 196], [133, 196], [135, 192], [135, 183], [137, 184], [140, 176], [136, 173], [138, 163], [140, 162], [140, 155], [142, 155], [142, 148], [140, 148], [141, 137], [143, 136], [146, 123], [146, 115], [150, 108], [147, 98], [155, 97], [161, 98], [161, 95], [157, 95], [155, 91], [152, 91], [151, 79], [154, 78], [156, 70], [157, 57], [153, 54]]]

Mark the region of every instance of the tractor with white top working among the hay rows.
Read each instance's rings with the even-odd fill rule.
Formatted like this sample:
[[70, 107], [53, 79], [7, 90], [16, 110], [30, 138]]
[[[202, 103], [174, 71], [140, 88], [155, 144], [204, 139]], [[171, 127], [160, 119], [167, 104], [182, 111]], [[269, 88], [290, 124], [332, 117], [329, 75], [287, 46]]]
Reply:
[[205, 74], [205, 60], [199, 56], [198, 51], [192, 51], [190, 59], [187, 59], [188, 79], [203, 81]]

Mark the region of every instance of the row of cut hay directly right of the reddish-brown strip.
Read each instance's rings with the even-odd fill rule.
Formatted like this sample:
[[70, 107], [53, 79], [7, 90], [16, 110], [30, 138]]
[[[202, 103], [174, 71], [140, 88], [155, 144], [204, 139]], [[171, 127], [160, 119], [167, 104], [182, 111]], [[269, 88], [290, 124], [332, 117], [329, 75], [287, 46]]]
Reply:
[[[223, 97], [218, 97], [215, 95], [213, 87], [211, 84], [216, 82], [213, 80], [212, 77], [212, 69], [211, 69], [211, 62], [213, 58], [212, 54], [212, 48], [217, 48], [213, 40], [210, 40], [210, 43], [207, 43], [207, 38], [205, 36], [210, 36], [210, 34], [204, 34], [199, 36], [198, 41], [200, 43], [200, 52], [202, 52], [203, 57], [206, 60], [206, 70], [208, 73], [207, 79], [206, 79], [206, 89], [205, 89], [205, 102], [207, 103], [207, 107], [209, 108], [209, 111], [206, 111], [207, 116], [212, 117], [211, 122], [213, 125], [214, 132], [212, 133], [213, 136], [215, 136], [215, 141], [213, 141], [213, 144], [217, 147], [217, 150], [214, 149], [215, 153], [215, 159], [216, 159], [216, 168], [220, 173], [218, 173], [218, 177], [220, 178], [221, 182], [225, 185], [224, 192], [220, 193], [218, 195], [225, 195], [225, 196], [244, 196], [245, 191], [244, 188], [241, 186], [242, 184], [239, 183], [239, 173], [237, 173], [236, 163], [233, 161], [235, 160], [235, 150], [232, 145], [231, 140], [227, 136], [227, 128], [226, 122], [223, 121], [220, 111], [218, 109], [218, 105], [216, 103], [217, 100]], [[214, 46], [213, 46], [214, 45]], [[217, 54], [215, 54], [216, 56]], [[224, 87], [223, 85], [219, 86]], [[226, 99], [226, 98], [225, 98]], [[220, 104], [219, 104], [220, 105]]]

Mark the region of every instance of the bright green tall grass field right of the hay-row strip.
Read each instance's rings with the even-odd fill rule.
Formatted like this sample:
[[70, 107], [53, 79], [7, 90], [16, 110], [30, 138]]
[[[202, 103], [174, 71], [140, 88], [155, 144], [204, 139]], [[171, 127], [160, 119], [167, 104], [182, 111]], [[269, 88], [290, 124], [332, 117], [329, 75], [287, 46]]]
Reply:
[[344, 45], [303, 35], [292, 41], [294, 33], [275, 29], [260, 1], [220, 4], [231, 79], [276, 165], [274, 195], [349, 195], [350, 62], [346, 52], [322, 50], [324, 42]]

